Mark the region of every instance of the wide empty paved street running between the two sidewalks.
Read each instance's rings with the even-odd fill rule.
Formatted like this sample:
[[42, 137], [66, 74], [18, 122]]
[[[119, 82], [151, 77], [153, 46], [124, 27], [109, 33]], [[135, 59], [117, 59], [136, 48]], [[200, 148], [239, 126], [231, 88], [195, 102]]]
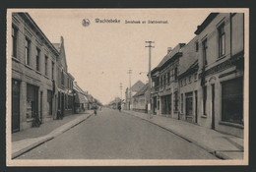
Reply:
[[102, 109], [78, 126], [17, 159], [216, 159], [160, 127]]

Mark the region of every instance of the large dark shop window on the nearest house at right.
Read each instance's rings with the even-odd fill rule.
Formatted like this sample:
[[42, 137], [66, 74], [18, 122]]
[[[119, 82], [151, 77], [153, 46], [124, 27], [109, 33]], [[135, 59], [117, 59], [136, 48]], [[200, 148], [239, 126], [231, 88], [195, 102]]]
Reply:
[[243, 125], [243, 79], [222, 83], [222, 121]]

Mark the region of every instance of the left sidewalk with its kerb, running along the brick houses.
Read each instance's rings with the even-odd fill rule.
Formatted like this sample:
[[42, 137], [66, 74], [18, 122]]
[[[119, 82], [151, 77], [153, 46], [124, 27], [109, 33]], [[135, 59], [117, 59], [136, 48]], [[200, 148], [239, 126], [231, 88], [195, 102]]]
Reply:
[[31, 128], [12, 134], [12, 158], [25, 153], [41, 143], [52, 140], [56, 136], [85, 121], [92, 114], [92, 110], [83, 114], [71, 114], [64, 116], [62, 120], [48, 121], [41, 124], [38, 128]]

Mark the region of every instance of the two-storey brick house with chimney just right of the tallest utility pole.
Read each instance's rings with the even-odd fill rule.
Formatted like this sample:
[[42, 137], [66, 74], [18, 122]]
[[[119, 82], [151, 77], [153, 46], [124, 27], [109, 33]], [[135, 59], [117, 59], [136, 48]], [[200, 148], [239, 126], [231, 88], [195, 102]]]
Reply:
[[152, 71], [152, 109], [154, 114], [179, 118], [178, 74], [181, 48], [179, 43], [173, 49], [168, 48], [167, 55]]

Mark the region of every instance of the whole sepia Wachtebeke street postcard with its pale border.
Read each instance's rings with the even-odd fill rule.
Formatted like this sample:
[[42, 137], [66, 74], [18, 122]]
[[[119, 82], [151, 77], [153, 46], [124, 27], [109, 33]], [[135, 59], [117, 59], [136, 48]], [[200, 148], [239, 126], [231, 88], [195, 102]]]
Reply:
[[249, 10], [7, 9], [7, 166], [248, 165]]

